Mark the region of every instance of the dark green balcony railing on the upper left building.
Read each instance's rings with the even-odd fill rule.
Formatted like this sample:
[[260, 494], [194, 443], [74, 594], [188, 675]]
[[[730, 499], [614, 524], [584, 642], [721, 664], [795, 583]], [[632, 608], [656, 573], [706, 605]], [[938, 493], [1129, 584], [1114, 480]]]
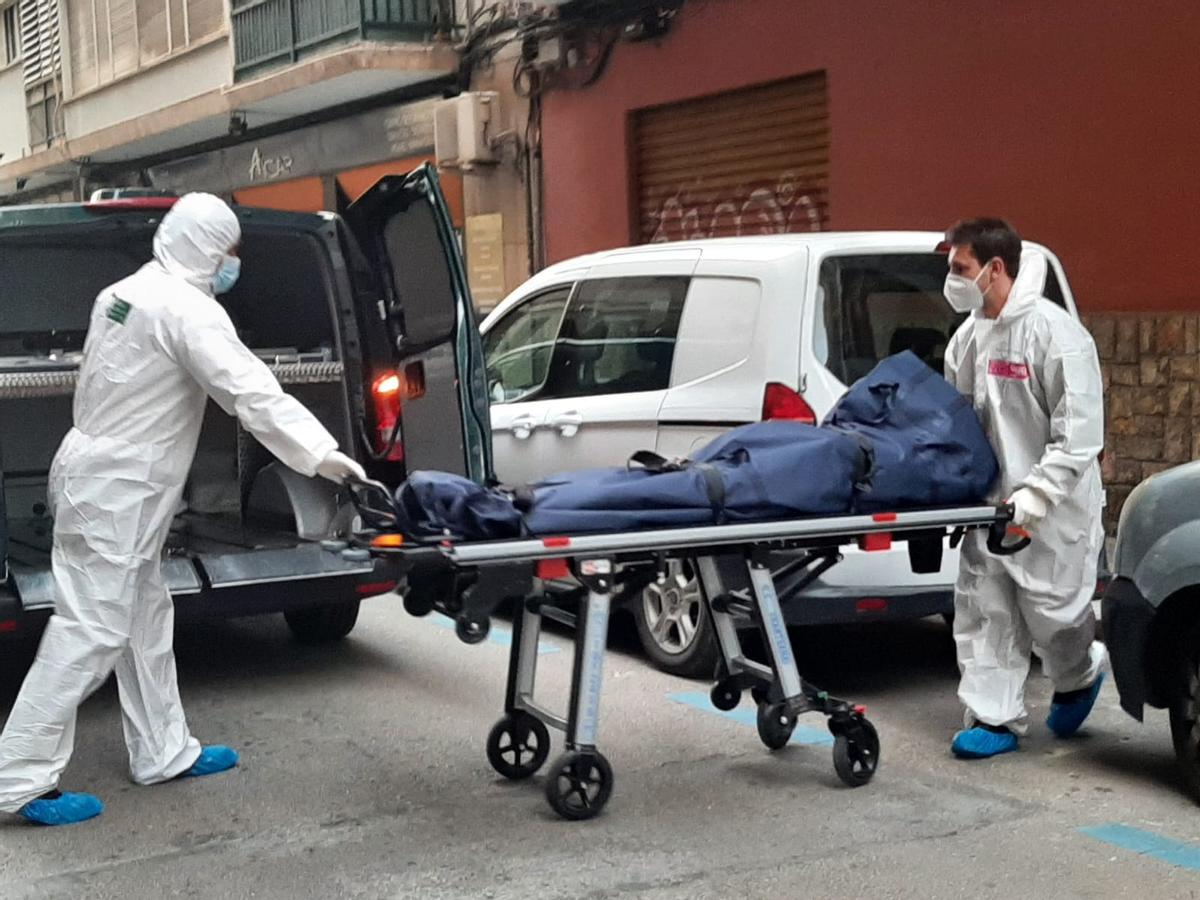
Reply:
[[450, 0], [234, 0], [234, 77], [354, 40], [427, 41], [449, 31]]

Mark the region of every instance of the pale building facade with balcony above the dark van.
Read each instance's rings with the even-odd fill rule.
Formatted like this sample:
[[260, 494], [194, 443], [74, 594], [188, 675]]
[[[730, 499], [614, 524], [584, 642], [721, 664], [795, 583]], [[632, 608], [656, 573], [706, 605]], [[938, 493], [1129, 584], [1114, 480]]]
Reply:
[[371, 175], [432, 158], [425, 101], [456, 90], [449, 0], [0, 0], [0, 12], [6, 203], [142, 186], [336, 208]]

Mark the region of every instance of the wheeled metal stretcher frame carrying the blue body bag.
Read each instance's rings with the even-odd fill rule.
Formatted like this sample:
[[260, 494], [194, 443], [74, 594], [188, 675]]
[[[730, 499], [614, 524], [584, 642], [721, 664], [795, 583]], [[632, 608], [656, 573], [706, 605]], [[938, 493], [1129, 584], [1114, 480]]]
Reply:
[[[560, 816], [590, 818], [608, 802], [613, 773], [596, 745], [604, 654], [613, 595], [638, 590], [662, 577], [667, 560], [686, 560], [715, 624], [720, 664], [712, 702], [733, 709], [750, 690], [758, 707], [758, 737], [775, 750], [787, 744], [797, 718], [816, 712], [834, 736], [834, 768], [847, 785], [871, 780], [880, 738], [865, 709], [829, 696], [799, 673], [787, 635], [776, 578], [803, 589], [840, 562], [844, 547], [866, 551], [905, 541], [918, 571], [936, 571], [943, 541], [952, 546], [971, 529], [988, 529], [991, 552], [1010, 554], [1028, 544], [1012, 527], [1012, 508], [970, 506], [895, 514], [851, 515], [522, 540], [412, 545], [389, 530], [395, 522], [383, 485], [350, 491], [368, 530], [342, 552], [385, 559], [404, 584], [404, 608], [414, 616], [439, 612], [456, 623], [458, 637], [487, 637], [491, 617], [512, 613], [512, 643], [504, 716], [487, 739], [487, 758], [503, 776], [534, 775], [550, 755], [548, 727], [565, 732], [566, 749], [552, 763], [546, 799]], [[1008, 542], [1015, 533], [1016, 540]], [[781, 557], [784, 552], [786, 556]], [[780, 564], [779, 559], [787, 562]], [[774, 571], [773, 571], [774, 568]], [[574, 580], [577, 589], [547, 590]], [[535, 700], [542, 620], [575, 629], [575, 660], [565, 715]], [[767, 661], [750, 659], [740, 631], [749, 622], [762, 637]]]

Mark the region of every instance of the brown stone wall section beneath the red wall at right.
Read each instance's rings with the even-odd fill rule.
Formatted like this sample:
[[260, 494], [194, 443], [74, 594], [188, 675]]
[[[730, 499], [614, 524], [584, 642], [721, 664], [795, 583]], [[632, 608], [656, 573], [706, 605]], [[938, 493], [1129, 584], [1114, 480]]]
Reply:
[[1106, 524], [1157, 472], [1200, 457], [1198, 316], [1085, 316], [1105, 390]]

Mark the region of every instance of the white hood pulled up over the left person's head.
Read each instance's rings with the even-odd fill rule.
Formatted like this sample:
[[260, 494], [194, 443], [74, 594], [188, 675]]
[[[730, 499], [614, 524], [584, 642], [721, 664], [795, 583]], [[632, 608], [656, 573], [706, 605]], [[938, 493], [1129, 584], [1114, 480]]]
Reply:
[[190, 193], [158, 224], [154, 257], [168, 275], [211, 295], [212, 275], [240, 240], [238, 216], [224, 200], [210, 193]]

